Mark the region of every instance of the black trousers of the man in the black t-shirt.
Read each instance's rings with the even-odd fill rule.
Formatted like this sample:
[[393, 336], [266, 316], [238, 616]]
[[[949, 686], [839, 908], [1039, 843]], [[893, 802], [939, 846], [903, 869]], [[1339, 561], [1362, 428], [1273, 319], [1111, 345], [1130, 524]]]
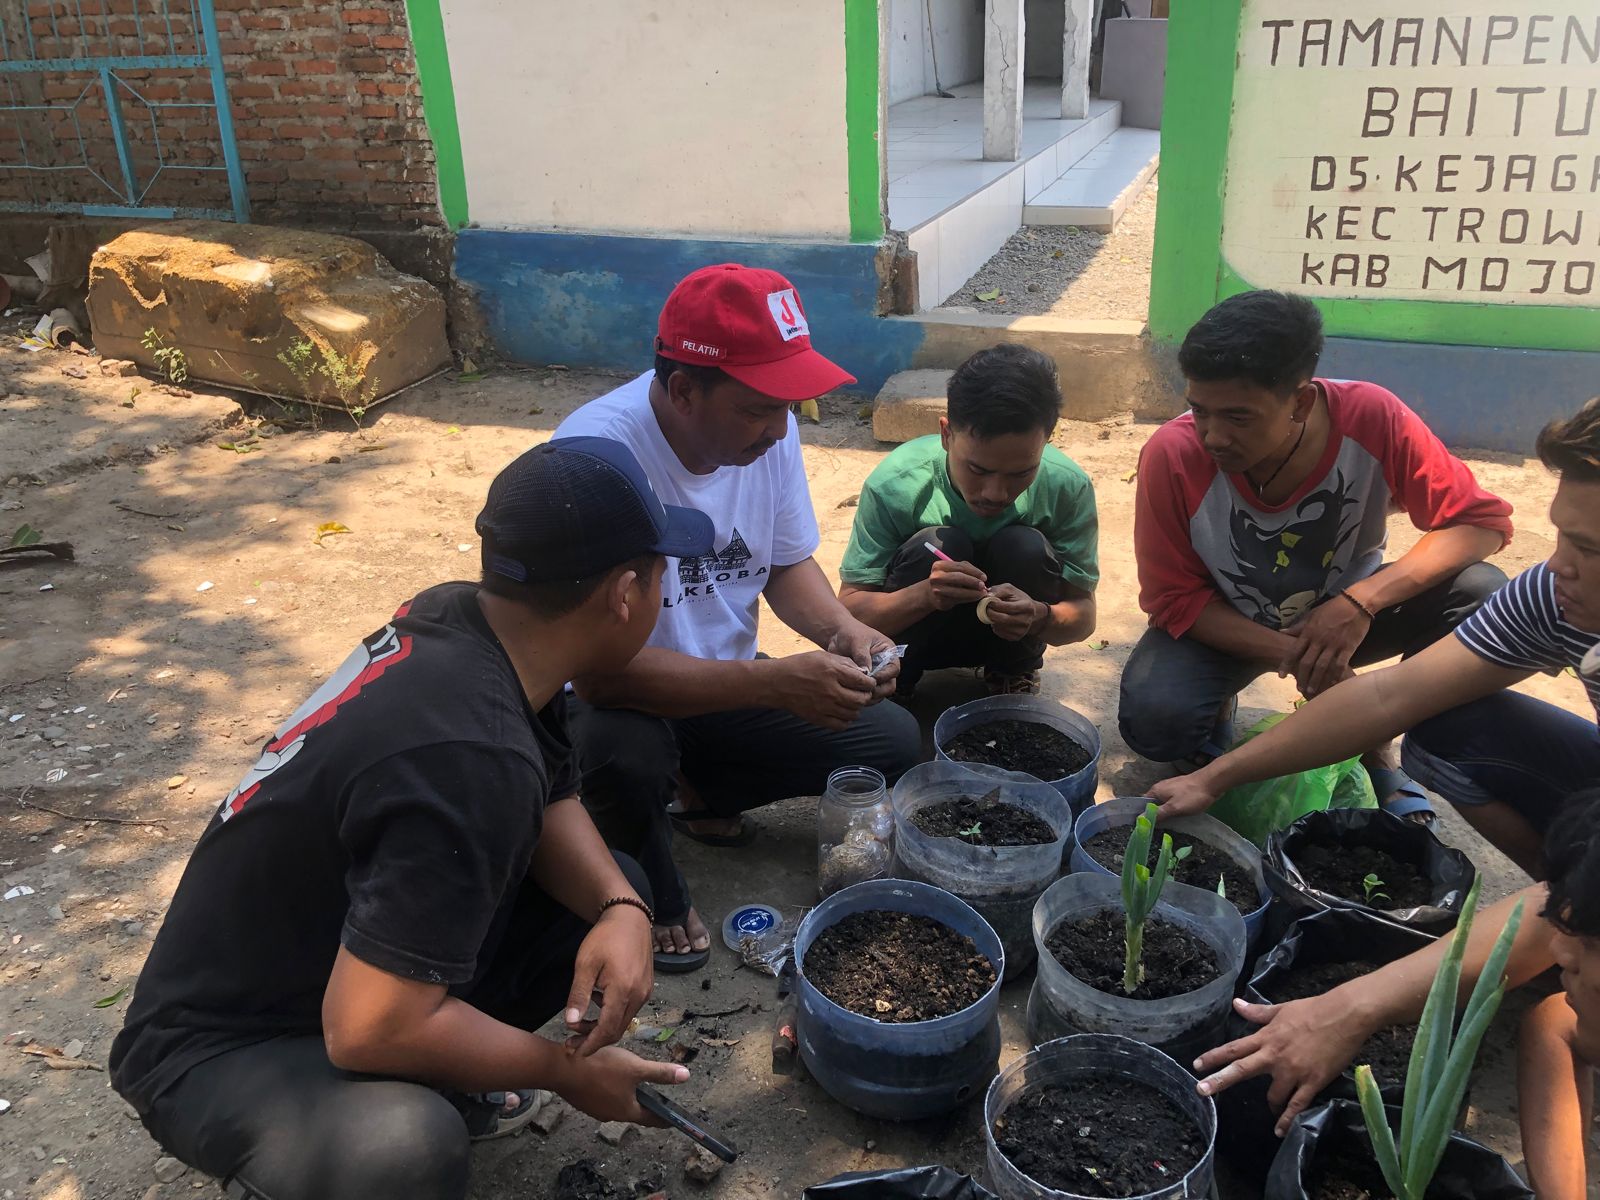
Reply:
[[[650, 899], [638, 864], [618, 856]], [[483, 979], [461, 998], [520, 1029], [566, 1005], [589, 922], [525, 883]], [[250, 1200], [459, 1200], [467, 1126], [421, 1083], [339, 1070], [320, 1034], [277, 1037], [187, 1070], [144, 1118], [168, 1154]]]

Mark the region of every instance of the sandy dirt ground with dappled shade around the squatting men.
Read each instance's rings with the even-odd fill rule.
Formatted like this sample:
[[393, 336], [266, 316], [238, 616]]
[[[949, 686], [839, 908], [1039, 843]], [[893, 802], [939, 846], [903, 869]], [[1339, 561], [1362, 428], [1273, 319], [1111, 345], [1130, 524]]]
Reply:
[[[85, 366], [86, 379], [62, 373]], [[221, 1195], [192, 1171], [158, 1178], [160, 1150], [101, 1070], [48, 1069], [21, 1046], [32, 1040], [77, 1050], [78, 1062], [106, 1062], [189, 848], [256, 747], [398, 603], [475, 573], [472, 520], [494, 472], [614, 382], [566, 371], [437, 379], [371, 414], [365, 430], [312, 430], [250, 416], [221, 395], [173, 397], [149, 381], [101, 379], [90, 360], [0, 350], [0, 541], [27, 522], [77, 550], [72, 563], [0, 568], [0, 880], [34, 890], [0, 902], [0, 1098], [10, 1101], [0, 1115], [0, 1200]], [[822, 424], [803, 432], [829, 571], [850, 533], [851, 501], [883, 454], [859, 403], [827, 400]], [[1058, 435], [1099, 491], [1094, 645], [1106, 645], [1051, 651], [1045, 694], [1102, 730], [1102, 798], [1138, 794], [1155, 778], [1115, 733], [1117, 677], [1144, 624], [1128, 474], [1149, 432], [1112, 421]], [[1552, 480], [1518, 458], [1472, 461], [1517, 506], [1506, 570], [1547, 555]], [[349, 533], [318, 544], [328, 522]], [[1395, 546], [1411, 538], [1397, 528]], [[763, 646], [798, 648], [770, 614]], [[1530, 690], [1587, 710], [1576, 680], [1541, 678]], [[931, 722], [973, 694], [970, 678], [930, 678], [918, 712]], [[1246, 691], [1243, 715], [1290, 701], [1286, 685], [1264, 680]], [[814, 802], [797, 800], [757, 813], [762, 837], [742, 851], [683, 846], [714, 925], [739, 901], [798, 907], [813, 898], [813, 811]], [[1448, 813], [1445, 834], [1469, 848], [1496, 894], [1515, 886], [1515, 872]], [[1003, 1061], [1024, 1050], [1026, 997], [1026, 981], [1003, 992]], [[976, 1104], [894, 1125], [846, 1112], [803, 1077], [773, 1077], [773, 981], [738, 970], [717, 946], [704, 973], [658, 981], [643, 1014], [674, 1027], [680, 1053], [693, 1054], [682, 1098], [747, 1149], [709, 1186], [685, 1182], [680, 1138], [632, 1131], [613, 1146], [589, 1118], [566, 1112], [550, 1134], [526, 1131], [477, 1150], [472, 1195], [550, 1197], [557, 1170], [578, 1158], [598, 1163], [619, 1195], [638, 1184], [726, 1200], [794, 1197], [846, 1170], [926, 1162], [981, 1170]], [[1510, 1030], [1502, 1016], [1469, 1128], [1515, 1158]]]

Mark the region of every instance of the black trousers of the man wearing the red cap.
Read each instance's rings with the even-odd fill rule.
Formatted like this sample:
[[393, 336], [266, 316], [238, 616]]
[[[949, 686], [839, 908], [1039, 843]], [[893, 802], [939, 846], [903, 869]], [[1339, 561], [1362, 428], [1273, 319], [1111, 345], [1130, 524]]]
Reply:
[[672, 861], [678, 771], [717, 816], [819, 795], [840, 766], [872, 766], [893, 784], [922, 758], [917, 718], [883, 701], [838, 733], [782, 709], [731, 709], [669, 720], [597, 709], [573, 698], [570, 723], [584, 768], [584, 806], [606, 845], [645, 867], [656, 917], [678, 920], [690, 890]]

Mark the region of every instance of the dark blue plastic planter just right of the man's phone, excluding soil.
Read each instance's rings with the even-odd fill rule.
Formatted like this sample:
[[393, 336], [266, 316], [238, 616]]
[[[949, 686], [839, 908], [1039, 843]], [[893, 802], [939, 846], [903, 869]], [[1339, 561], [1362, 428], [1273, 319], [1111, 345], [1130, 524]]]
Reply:
[[[994, 986], [978, 1003], [934, 1021], [893, 1024], [835, 1005], [806, 979], [806, 950], [829, 925], [880, 909], [933, 917], [971, 938], [995, 966]], [[840, 1104], [867, 1117], [917, 1120], [949, 1112], [994, 1078], [1005, 950], [989, 923], [950, 893], [909, 880], [870, 880], [835, 891], [800, 922], [795, 966], [800, 1061]]]

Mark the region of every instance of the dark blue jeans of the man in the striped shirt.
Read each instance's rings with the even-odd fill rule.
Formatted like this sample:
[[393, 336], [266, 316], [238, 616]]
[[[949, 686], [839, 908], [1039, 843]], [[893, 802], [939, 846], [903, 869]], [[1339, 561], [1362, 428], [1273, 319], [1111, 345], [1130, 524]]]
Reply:
[[1400, 763], [1458, 808], [1502, 802], [1544, 834], [1568, 795], [1600, 779], [1600, 728], [1533, 696], [1498, 691], [1418, 725]]

